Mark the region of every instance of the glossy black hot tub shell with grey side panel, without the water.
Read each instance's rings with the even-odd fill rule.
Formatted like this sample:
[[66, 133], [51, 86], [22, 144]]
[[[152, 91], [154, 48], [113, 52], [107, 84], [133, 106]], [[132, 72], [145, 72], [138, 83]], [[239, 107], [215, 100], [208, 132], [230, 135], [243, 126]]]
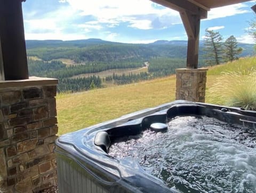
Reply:
[[144, 171], [131, 159], [107, 154], [112, 140], [136, 135], [153, 123], [176, 116], [208, 116], [256, 128], [256, 112], [212, 104], [174, 101], [60, 136], [55, 141], [59, 191], [62, 192], [178, 192]]

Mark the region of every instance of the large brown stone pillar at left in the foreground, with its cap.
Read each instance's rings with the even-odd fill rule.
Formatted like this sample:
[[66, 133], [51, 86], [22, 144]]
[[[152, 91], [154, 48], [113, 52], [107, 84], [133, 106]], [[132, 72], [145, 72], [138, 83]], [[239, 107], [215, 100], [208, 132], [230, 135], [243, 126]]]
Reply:
[[0, 81], [0, 192], [37, 192], [57, 184], [57, 79]]

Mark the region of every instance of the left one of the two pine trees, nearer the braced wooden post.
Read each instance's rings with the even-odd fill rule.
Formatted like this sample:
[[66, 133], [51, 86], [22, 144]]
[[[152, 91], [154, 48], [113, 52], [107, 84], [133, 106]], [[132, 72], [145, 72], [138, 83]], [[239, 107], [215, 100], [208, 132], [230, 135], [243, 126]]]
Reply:
[[220, 33], [206, 29], [204, 37], [204, 58], [207, 65], [219, 65], [222, 61], [223, 38]]

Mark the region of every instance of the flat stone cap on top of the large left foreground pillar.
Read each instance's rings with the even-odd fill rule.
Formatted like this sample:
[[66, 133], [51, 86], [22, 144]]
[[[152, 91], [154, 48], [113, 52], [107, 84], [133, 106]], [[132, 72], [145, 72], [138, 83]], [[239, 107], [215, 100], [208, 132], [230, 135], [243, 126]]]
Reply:
[[41, 78], [31, 76], [28, 79], [12, 80], [12, 81], [0, 81], [0, 89], [6, 89], [10, 87], [24, 87], [24, 86], [43, 86], [43, 85], [57, 85], [58, 79], [55, 78]]

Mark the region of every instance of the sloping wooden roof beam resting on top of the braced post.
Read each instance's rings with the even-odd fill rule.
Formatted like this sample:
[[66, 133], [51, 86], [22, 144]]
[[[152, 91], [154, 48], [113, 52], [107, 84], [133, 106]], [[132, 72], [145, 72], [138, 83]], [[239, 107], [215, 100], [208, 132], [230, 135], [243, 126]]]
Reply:
[[201, 19], [207, 18], [207, 11], [209, 9], [203, 9], [202, 6], [198, 6], [198, 4], [194, 4], [188, 0], [151, 0], [155, 3], [161, 4], [163, 6], [169, 7], [173, 10], [182, 12], [188, 11], [190, 13], [200, 15]]

